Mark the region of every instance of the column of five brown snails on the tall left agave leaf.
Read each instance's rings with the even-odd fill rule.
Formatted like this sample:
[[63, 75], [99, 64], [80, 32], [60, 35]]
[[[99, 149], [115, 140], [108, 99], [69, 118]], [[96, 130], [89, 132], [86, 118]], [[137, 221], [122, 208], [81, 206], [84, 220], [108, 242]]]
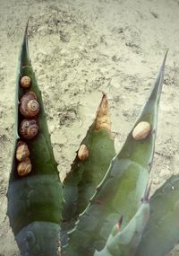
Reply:
[[[21, 77], [21, 87], [29, 89], [31, 85], [29, 76]], [[37, 116], [39, 112], [38, 99], [35, 93], [25, 93], [20, 99], [19, 110], [24, 119], [21, 120], [19, 126], [19, 134], [21, 138], [30, 140], [38, 135]], [[16, 148], [16, 159], [19, 161], [17, 172], [20, 176], [27, 175], [31, 172], [30, 150], [27, 143], [19, 141]]]

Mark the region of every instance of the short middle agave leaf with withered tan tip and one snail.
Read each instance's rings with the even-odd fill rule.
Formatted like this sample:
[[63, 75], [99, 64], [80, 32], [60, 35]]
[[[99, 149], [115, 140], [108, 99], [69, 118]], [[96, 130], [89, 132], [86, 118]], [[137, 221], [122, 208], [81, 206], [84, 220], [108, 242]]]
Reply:
[[[81, 151], [82, 148], [84, 150]], [[110, 129], [107, 96], [104, 94], [96, 119], [81, 142], [71, 172], [64, 179], [65, 221], [79, 216], [87, 207], [114, 156], [114, 137]]]

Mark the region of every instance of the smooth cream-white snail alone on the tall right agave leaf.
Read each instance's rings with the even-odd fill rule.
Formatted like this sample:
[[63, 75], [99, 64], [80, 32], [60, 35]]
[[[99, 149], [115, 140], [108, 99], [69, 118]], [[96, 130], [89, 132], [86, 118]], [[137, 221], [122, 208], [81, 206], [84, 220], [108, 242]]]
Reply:
[[141, 121], [132, 131], [135, 140], [141, 140], [149, 136], [151, 125], [149, 122]]

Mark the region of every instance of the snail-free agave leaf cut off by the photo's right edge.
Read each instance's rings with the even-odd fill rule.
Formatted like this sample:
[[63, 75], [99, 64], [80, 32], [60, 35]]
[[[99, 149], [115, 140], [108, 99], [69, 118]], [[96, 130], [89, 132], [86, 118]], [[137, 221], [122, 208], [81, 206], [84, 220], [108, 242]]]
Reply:
[[150, 216], [135, 256], [165, 256], [179, 241], [179, 175], [149, 199]]

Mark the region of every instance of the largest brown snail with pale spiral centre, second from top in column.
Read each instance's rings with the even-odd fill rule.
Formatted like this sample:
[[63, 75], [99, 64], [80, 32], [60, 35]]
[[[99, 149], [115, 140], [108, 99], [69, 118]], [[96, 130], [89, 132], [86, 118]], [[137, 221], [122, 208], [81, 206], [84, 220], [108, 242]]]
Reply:
[[33, 92], [25, 93], [21, 97], [20, 112], [25, 118], [32, 118], [38, 115], [39, 104], [37, 96]]

